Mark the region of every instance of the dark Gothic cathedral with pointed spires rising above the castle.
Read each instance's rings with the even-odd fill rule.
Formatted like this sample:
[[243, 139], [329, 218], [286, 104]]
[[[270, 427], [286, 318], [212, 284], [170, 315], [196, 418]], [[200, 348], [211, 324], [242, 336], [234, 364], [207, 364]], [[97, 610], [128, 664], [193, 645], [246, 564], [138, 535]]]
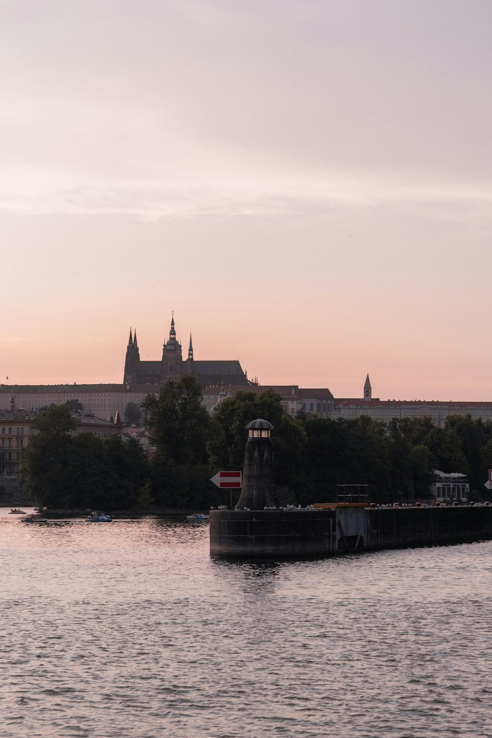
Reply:
[[132, 335], [130, 329], [123, 384], [163, 384], [168, 379], [181, 379], [184, 374], [194, 376], [203, 388], [221, 387], [222, 384], [257, 384], [257, 381], [248, 379], [238, 360], [200, 361], [195, 359], [191, 334], [188, 356], [187, 359], [183, 359], [181, 343], [176, 339], [174, 316], [171, 319], [169, 339], [162, 347], [162, 359], [157, 361], [142, 362], [136, 342], [136, 331]]

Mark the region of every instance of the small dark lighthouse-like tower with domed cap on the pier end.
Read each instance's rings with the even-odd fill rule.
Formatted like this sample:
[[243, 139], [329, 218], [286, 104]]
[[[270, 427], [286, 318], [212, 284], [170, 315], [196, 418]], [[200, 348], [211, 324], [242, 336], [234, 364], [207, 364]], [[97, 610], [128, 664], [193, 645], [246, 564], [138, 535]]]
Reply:
[[248, 441], [244, 452], [243, 488], [236, 510], [263, 510], [277, 505], [272, 428], [271, 423], [261, 418], [246, 426]]

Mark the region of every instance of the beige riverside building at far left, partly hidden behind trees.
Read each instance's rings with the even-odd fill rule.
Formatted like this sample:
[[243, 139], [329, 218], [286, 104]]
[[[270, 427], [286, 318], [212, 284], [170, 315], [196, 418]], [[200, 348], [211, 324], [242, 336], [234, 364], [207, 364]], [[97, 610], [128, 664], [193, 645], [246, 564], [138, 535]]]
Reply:
[[[32, 423], [37, 412], [27, 410], [0, 410], [0, 477], [17, 477], [21, 463], [21, 451], [36, 432]], [[92, 433], [98, 438], [109, 438], [122, 430], [119, 414], [113, 423], [91, 415], [75, 413], [75, 430], [72, 435]]]

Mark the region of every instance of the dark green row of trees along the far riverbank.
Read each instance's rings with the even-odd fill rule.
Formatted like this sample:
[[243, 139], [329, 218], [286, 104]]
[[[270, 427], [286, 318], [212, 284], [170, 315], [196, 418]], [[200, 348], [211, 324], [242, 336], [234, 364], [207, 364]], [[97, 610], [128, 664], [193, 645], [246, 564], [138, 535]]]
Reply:
[[35, 422], [37, 434], [21, 454], [21, 473], [38, 503], [52, 508], [196, 508], [229, 502], [210, 477], [242, 469], [245, 426], [264, 418], [272, 441], [280, 501], [336, 500], [337, 484], [367, 484], [375, 502], [429, 497], [434, 469], [468, 476], [472, 499], [485, 495], [492, 468], [492, 424], [469, 415], [446, 419], [367, 416], [328, 420], [285, 414], [272, 390], [238, 391], [210, 415], [191, 376], [170, 380], [142, 404], [154, 447], [146, 458], [139, 442], [114, 434], [73, 435], [68, 407], [49, 407]]

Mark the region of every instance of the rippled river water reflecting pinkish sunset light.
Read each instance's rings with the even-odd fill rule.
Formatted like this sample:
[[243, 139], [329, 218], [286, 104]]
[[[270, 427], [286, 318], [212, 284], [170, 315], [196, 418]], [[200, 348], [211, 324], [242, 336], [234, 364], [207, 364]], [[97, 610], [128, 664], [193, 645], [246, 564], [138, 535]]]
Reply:
[[0, 512], [0, 736], [492, 736], [492, 543], [209, 559], [208, 525]]

